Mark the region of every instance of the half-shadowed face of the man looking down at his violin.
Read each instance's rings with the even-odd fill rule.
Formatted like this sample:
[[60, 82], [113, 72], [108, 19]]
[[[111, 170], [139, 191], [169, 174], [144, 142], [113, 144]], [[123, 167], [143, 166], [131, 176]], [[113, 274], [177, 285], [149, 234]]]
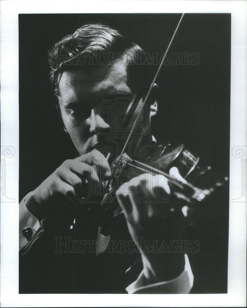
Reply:
[[[120, 117], [113, 115], [115, 119], [110, 117], [109, 120], [109, 112], [102, 112], [102, 101], [114, 102], [120, 97], [126, 98], [125, 102], [130, 102], [136, 93], [127, 83], [127, 73], [120, 60], [112, 65], [94, 67], [89, 71], [62, 73], [58, 97], [61, 115], [66, 131], [79, 153], [86, 149], [99, 149], [105, 144], [114, 148], [113, 152], [116, 151], [115, 143], [109, 141], [109, 136], [112, 135], [112, 123], [121, 125], [119, 122], [123, 120], [123, 111]], [[109, 104], [107, 106], [109, 107]], [[117, 142], [120, 147], [124, 142], [124, 138], [121, 139], [121, 130], [119, 135], [120, 139], [118, 138]]]

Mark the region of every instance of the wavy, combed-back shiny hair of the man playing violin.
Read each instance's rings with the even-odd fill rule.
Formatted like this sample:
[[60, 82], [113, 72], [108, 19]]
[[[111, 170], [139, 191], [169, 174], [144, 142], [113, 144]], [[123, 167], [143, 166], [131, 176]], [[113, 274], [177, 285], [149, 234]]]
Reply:
[[127, 71], [129, 86], [145, 92], [149, 81], [148, 65], [141, 63], [143, 49], [132, 43], [126, 35], [103, 23], [87, 23], [73, 34], [64, 36], [48, 52], [52, 90], [59, 96], [59, 78], [63, 71], [90, 70], [99, 63], [99, 57], [111, 64], [122, 59]]

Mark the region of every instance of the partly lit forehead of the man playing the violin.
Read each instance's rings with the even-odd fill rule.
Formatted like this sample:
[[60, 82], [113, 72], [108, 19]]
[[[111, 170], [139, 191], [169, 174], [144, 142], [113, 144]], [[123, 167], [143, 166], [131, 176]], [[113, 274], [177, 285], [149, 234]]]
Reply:
[[102, 98], [104, 95], [132, 95], [122, 61], [92, 67], [88, 71], [64, 71], [59, 81], [59, 92], [60, 103], [95, 95]]

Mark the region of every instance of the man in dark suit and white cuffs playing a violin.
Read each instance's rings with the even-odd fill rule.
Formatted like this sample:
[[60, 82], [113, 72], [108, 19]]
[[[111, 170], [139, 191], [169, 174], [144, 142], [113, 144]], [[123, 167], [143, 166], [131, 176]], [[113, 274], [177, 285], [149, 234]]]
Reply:
[[[50, 258], [43, 259], [43, 274], [46, 273], [44, 276], [47, 279], [43, 287], [39, 286], [43, 293], [127, 291], [165, 294], [189, 293], [192, 288], [193, 274], [184, 252], [152, 252], [140, 242], [142, 238], [152, 246], [154, 242], [165, 240], [168, 244], [182, 239], [179, 218], [176, 220], [174, 216], [172, 223], [164, 218], [174, 200], [163, 202], [161, 207], [160, 198], [169, 201], [172, 193], [165, 176], [137, 173], [116, 190], [115, 198], [124, 212], [128, 235], [125, 231], [123, 237], [116, 236], [114, 232], [102, 232], [92, 215], [100, 207], [104, 188], [109, 184], [112, 174], [110, 166], [122, 149], [125, 147], [124, 152], [129, 157], [138, 159], [135, 149], [154, 140], [150, 122], [157, 112], [158, 87], [153, 84], [144, 106], [151, 82], [148, 67], [137, 63], [142, 53], [138, 45], [128, 41], [117, 30], [94, 23], [86, 24], [74, 34], [64, 37], [49, 53], [57, 110], [64, 131], [71, 137], [79, 155], [64, 161], [20, 203], [20, 251], [23, 257], [32, 253], [32, 250], [37, 253], [39, 247], [46, 244], [49, 251], [57, 251], [55, 257], [48, 253]], [[104, 58], [100, 59], [99, 54]], [[115, 109], [108, 108], [104, 112], [104, 106], [109, 104]], [[134, 125], [133, 119], [136, 118], [134, 134], [126, 143]], [[102, 148], [106, 148], [106, 152]], [[175, 176], [181, 179], [179, 173]], [[89, 191], [93, 193], [83, 203]], [[142, 202], [138, 202], [138, 191], [143, 192]], [[91, 206], [85, 206], [87, 201]], [[181, 209], [179, 211], [182, 215]], [[75, 215], [72, 217], [74, 223], [72, 220], [71, 226], [68, 226], [71, 233], [62, 232], [60, 237], [56, 226], [59, 226], [57, 230], [66, 229], [63, 221], [69, 213]], [[122, 227], [120, 229], [123, 230]], [[105, 250], [69, 253], [65, 256], [67, 261], [63, 263], [59, 258], [65, 253], [61, 254], [60, 249], [53, 244], [65, 245], [66, 237], [63, 235], [66, 234], [72, 235], [72, 238], [74, 236], [74, 239], [95, 241], [96, 245], [97, 242], [104, 243]], [[54, 235], [56, 241], [50, 239], [45, 244], [46, 236], [51, 238]], [[112, 239], [119, 238], [132, 240], [138, 248], [138, 270], [134, 270], [130, 278], [125, 278], [128, 277], [128, 271], [126, 274], [125, 271], [135, 263], [135, 253], [107, 253], [107, 245]], [[127, 260], [127, 254], [130, 260]], [[64, 271], [64, 277], [73, 274], [71, 284], [69, 279], [59, 281], [61, 271]]]

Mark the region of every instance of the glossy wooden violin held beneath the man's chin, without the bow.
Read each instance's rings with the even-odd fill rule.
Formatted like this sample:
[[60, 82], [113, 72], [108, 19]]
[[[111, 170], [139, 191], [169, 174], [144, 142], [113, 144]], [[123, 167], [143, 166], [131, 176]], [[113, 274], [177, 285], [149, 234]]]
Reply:
[[[199, 157], [189, 152], [183, 144], [172, 150], [169, 150], [169, 146], [152, 142], [142, 147], [141, 151], [137, 149], [142, 161], [132, 160], [126, 153], [114, 160], [111, 164], [110, 188], [105, 192], [95, 216], [95, 220], [102, 228], [101, 233], [110, 234], [111, 230], [119, 225], [119, 220], [123, 219], [124, 212], [115, 198], [117, 189], [140, 174], [161, 174], [168, 179], [171, 189], [169, 201], [172, 202], [168, 204], [168, 199], [163, 200], [161, 197], [159, 203], [170, 207], [171, 215], [174, 215], [174, 210], [176, 212], [178, 209], [183, 209], [188, 225], [192, 225], [196, 220], [199, 205], [205, 204], [215, 190], [228, 181], [227, 177], [214, 173], [210, 166], [200, 167]], [[169, 173], [172, 170], [175, 174]], [[179, 172], [178, 176], [176, 172]], [[140, 192], [140, 196], [141, 194], [143, 193]]]

